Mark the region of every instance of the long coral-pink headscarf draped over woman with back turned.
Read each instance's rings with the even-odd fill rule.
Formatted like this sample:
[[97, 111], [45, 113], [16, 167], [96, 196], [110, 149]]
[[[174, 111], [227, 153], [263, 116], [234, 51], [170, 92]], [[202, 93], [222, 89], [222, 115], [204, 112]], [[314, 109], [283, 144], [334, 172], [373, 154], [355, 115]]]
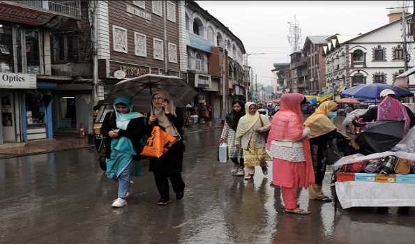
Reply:
[[303, 137], [303, 113], [301, 112], [301, 102], [304, 96], [300, 93], [289, 93], [282, 95], [280, 111], [278, 111], [271, 122], [268, 142], [266, 147], [269, 149], [272, 141], [296, 141], [301, 140], [305, 156], [305, 187], [315, 183], [314, 169], [310, 152], [310, 140]]

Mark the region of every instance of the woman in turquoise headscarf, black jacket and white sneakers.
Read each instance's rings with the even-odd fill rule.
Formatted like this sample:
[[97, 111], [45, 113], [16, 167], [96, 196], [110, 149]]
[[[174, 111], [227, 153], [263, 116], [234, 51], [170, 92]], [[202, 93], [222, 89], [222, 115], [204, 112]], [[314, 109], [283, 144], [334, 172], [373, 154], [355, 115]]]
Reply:
[[130, 195], [130, 176], [133, 160], [142, 151], [139, 139], [144, 135], [144, 116], [133, 112], [133, 103], [129, 98], [119, 97], [113, 102], [114, 112], [105, 116], [101, 133], [107, 136], [107, 171], [108, 178], [118, 180], [118, 198], [112, 202], [114, 208], [127, 204]]

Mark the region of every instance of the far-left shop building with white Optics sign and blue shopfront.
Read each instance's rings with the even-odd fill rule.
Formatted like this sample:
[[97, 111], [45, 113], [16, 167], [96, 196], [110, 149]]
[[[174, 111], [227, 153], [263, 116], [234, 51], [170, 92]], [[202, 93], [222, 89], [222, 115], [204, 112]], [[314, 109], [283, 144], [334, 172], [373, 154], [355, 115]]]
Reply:
[[[77, 77], [68, 72], [73, 63], [89, 62], [89, 28], [84, 28], [88, 4], [1, 1], [0, 144], [52, 139], [54, 128], [63, 124], [70, 128], [82, 122], [88, 125], [76, 108], [92, 105], [90, 94], [56, 95], [85, 86], [91, 91], [89, 79], [85, 79], [89, 70], [78, 72]], [[78, 86], [70, 85], [74, 83]]]

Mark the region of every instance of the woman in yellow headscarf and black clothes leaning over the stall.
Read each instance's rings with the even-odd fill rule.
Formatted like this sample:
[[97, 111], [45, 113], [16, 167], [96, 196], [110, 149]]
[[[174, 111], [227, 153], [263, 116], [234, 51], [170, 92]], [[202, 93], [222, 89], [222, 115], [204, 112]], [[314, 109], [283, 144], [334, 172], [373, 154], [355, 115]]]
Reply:
[[[331, 122], [329, 118], [331, 112], [335, 112], [338, 109], [337, 102], [326, 101], [322, 102], [317, 108], [316, 112], [305, 120], [304, 125], [310, 128], [311, 150], [317, 147], [317, 162], [315, 162], [315, 184], [308, 188], [308, 197], [311, 200], [319, 200], [330, 202], [331, 199], [324, 195], [322, 190], [322, 184], [324, 175], [326, 174], [326, 163], [324, 162], [324, 148], [329, 139], [337, 137], [342, 142], [342, 148], [347, 148], [349, 144], [349, 137], [343, 135], [337, 127]], [[313, 151], [313, 150], [312, 150]], [[347, 153], [348, 154], [348, 153]]]

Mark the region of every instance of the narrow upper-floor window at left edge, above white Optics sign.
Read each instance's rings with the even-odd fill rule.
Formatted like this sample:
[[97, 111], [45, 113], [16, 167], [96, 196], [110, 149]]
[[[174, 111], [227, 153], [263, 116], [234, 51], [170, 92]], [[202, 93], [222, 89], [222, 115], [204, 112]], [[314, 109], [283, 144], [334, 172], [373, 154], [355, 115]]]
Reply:
[[13, 28], [0, 22], [0, 71], [13, 72]]

